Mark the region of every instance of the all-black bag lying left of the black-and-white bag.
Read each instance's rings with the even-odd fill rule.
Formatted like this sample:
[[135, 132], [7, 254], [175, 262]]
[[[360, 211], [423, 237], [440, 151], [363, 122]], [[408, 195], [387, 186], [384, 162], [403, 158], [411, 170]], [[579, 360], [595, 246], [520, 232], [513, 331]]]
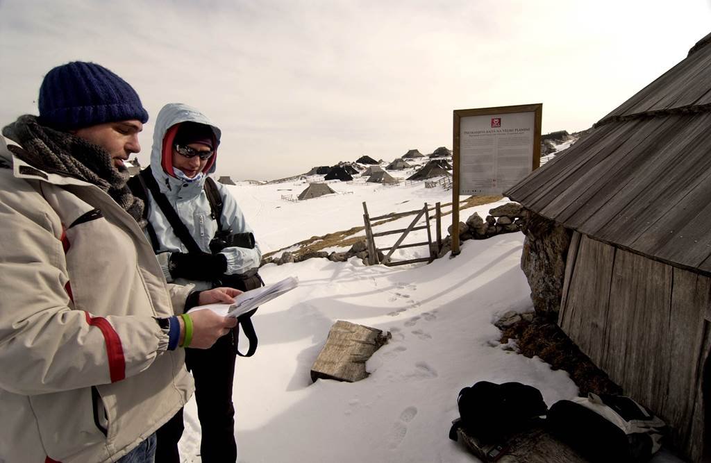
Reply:
[[494, 384], [479, 381], [459, 391], [460, 420], [449, 438], [456, 439], [457, 427], [483, 442], [498, 442], [533, 424], [547, 407], [540, 390], [521, 383]]

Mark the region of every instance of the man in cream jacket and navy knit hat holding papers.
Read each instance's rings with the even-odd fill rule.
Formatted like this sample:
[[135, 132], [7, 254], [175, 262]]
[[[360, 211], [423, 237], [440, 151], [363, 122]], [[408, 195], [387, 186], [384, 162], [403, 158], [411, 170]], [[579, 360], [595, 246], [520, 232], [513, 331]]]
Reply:
[[235, 326], [183, 312], [239, 291], [166, 283], [126, 186], [148, 119], [128, 83], [68, 63], [38, 103], [0, 137], [0, 462], [152, 462], [193, 392], [180, 347]]

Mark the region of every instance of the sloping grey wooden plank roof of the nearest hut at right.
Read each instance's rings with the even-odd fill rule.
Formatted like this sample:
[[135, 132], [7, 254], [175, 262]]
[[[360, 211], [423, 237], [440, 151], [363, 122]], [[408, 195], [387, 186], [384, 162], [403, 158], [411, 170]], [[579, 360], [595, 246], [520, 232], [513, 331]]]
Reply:
[[711, 275], [711, 34], [505, 194], [597, 240]]

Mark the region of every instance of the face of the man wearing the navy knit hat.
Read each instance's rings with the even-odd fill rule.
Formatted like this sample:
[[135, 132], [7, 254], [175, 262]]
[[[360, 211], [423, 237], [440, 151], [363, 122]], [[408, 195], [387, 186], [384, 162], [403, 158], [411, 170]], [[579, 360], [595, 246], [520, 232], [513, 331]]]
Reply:
[[108, 151], [114, 167], [119, 169], [124, 165], [124, 161], [129, 159], [131, 153], [141, 151], [138, 142], [138, 134], [141, 130], [143, 130], [141, 121], [133, 119], [92, 125], [72, 133]]

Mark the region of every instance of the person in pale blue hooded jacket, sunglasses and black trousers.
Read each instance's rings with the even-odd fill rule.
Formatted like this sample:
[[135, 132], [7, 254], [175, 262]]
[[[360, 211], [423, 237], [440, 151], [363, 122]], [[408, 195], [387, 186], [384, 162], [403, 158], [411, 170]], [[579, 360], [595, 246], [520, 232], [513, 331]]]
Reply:
[[[231, 276], [256, 273], [262, 257], [259, 245], [240, 247], [231, 245], [227, 238], [219, 252], [213, 253], [214, 247], [210, 249], [210, 241], [220, 230], [204, 186], [208, 174], [215, 171], [220, 136], [220, 129], [193, 107], [170, 103], [161, 109], [156, 118], [151, 166], [146, 169], [149, 172], [141, 175], [145, 179], [146, 174], [152, 174], [160, 193], [167, 198], [199, 250], [183, 243], [185, 240], [176, 233], [150, 188], [146, 195], [146, 218], [152, 228], [150, 234], [156, 257], [167, 281], [191, 283], [197, 289], [230, 286], [232, 282], [237, 289], [250, 289], [238, 287], [234, 282], [239, 282], [239, 278], [235, 280]], [[252, 228], [247, 225], [235, 198], [225, 186], [214, 184], [223, 203], [219, 220], [222, 230], [230, 230], [227, 235], [250, 235]], [[237, 459], [232, 405], [236, 351], [233, 344], [232, 336], [227, 335], [206, 351], [186, 349], [186, 364], [196, 382], [204, 463]], [[182, 432], [180, 412], [157, 433], [156, 461], [179, 461], [177, 443]]]

